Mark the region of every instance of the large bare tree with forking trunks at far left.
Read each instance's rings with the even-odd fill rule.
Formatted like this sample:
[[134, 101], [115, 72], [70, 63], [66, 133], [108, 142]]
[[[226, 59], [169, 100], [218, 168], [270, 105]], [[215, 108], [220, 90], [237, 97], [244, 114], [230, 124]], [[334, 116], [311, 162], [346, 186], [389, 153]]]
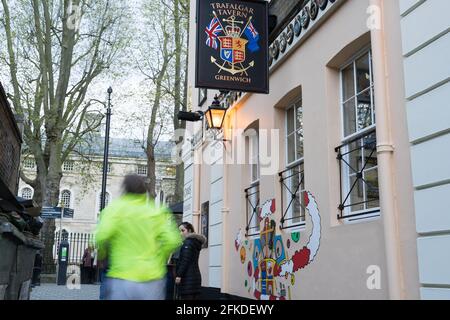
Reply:
[[[62, 164], [100, 124], [90, 119], [101, 117], [87, 117], [89, 88], [125, 46], [126, 7], [110, 0], [1, 2], [6, 54], [0, 51], [0, 61], [9, 69], [9, 98], [25, 119], [25, 151], [37, 168], [35, 176], [21, 172], [21, 178], [37, 203], [56, 206]], [[46, 228], [52, 234], [54, 221]]]

